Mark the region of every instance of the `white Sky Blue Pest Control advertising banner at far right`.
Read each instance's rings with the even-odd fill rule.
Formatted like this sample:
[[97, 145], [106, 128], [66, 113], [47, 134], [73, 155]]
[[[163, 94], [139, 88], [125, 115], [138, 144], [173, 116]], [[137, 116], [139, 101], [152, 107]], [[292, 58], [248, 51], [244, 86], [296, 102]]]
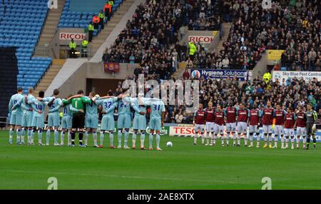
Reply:
[[275, 81], [277, 78], [278, 81], [282, 81], [285, 78], [303, 78], [305, 81], [310, 81], [313, 78], [317, 78], [318, 81], [321, 80], [321, 71], [273, 71], [272, 80]]

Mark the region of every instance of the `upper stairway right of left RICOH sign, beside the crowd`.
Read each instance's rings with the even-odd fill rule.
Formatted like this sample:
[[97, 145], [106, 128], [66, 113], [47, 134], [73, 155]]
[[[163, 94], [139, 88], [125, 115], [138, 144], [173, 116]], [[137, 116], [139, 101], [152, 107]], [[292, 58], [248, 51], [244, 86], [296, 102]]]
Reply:
[[93, 40], [90, 43], [91, 56], [93, 56], [96, 53], [96, 51], [99, 49], [101, 44], [103, 44], [103, 42], [106, 41], [109, 34], [111, 34], [113, 29], [115, 29], [117, 24], [123, 18], [123, 15], [126, 14], [126, 12], [131, 7], [134, 1], [135, 0], [123, 1], [123, 4], [119, 6], [117, 11], [111, 17], [111, 21], [108, 21], [107, 25], [105, 26], [105, 29], [101, 30], [101, 32], [97, 36], [93, 36]]

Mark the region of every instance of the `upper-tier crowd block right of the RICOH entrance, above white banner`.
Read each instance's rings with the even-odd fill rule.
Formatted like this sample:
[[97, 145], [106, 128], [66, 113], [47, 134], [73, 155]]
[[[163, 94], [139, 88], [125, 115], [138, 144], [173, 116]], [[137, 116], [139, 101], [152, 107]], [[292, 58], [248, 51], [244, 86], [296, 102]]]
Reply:
[[224, 4], [224, 19], [233, 19], [224, 43], [230, 61], [258, 61], [266, 49], [282, 49], [287, 70], [321, 71], [320, 1], [272, 1], [272, 9], [263, 9], [260, 1]]

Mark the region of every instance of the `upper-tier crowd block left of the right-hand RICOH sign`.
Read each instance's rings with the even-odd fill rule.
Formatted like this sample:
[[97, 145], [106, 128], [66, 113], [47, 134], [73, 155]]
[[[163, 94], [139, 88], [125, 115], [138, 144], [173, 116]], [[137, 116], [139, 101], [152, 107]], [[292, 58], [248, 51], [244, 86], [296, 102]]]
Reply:
[[220, 15], [215, 11], [218, 6], [214, 6], [217, 1], [146, 1], [138, 6], [115, 43], [106, 49], [103, 61], [138, 63], [145, 73], [169, 78], [177, 62], [187, 60], [188, 47], [180, 42], [184, 26], [191, 30], [220, 29]]

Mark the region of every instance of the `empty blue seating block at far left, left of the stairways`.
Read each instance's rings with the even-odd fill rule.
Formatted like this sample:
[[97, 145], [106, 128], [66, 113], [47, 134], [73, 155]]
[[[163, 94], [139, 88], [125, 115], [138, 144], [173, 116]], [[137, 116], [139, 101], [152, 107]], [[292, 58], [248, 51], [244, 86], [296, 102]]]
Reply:
[[47, 1], [4, 0], [0, 4], [0, 47], [17, 47], [17, 82], [27, 93], [28, 87], [36, 86], [51, 63], [51, 58], [31, 57], [46, 19]]

